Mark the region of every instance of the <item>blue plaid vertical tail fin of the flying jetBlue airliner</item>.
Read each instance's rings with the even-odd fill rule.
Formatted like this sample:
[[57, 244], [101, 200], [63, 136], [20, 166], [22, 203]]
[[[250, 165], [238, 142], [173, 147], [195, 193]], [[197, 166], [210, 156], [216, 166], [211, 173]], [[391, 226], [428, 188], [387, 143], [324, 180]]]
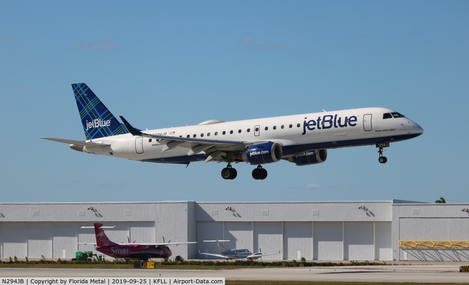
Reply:
[[88, 85], [76, 83], [72, 84], [72, 88], [87, 140], [129, 132], [125, 125], [120, 123], [104, 106]]

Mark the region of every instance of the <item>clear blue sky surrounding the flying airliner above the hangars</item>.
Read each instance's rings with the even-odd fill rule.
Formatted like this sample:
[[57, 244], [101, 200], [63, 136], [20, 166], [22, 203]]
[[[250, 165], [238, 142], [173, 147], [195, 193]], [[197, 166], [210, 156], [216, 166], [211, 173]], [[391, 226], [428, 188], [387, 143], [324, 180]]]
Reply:
[[[469, 202], [468, 1], [1, 1], [1, 201]], [[327, 161], [166, 165], [76, 152], [71, 84], [137, 128], [392, 108], [424, 128]]]

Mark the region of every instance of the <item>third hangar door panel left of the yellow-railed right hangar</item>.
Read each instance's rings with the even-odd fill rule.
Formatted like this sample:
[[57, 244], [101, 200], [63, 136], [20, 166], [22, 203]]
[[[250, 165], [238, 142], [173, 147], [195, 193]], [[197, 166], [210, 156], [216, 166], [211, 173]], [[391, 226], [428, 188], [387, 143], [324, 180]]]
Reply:
[[342, 222], [314, 223], [314, 259], [343, 259]]

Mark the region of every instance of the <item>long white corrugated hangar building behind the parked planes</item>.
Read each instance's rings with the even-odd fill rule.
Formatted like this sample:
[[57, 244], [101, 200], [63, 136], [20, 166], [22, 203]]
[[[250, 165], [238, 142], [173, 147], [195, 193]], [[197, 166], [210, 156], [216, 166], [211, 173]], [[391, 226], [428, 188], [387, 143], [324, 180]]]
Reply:
[[[261, 248], [269, 259], [469, 261], [469, 204], [329, 202], [0, 203], [0, 257], [72, 258], [94, 251], [99, 222], [114, 242], [197, 241], [173, 257]], [[97, 253], [97, 252], [96, 252]], [[99, 254], [99, 253], [98, 253]], [[267, 258], [267, 257], [266, 257]]]

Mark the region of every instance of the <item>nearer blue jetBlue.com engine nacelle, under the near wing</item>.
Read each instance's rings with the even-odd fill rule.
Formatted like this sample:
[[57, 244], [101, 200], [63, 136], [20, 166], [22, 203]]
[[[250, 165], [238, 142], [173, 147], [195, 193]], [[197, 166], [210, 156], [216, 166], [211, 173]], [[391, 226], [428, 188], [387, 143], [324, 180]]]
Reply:
[[282, 158], [282, 146], [276, 142], [266, 142], [262, 144], [248, 146], [248, 149], [241, 153], [241, 159], [250, 164], [264, 164], [278, 162]]

